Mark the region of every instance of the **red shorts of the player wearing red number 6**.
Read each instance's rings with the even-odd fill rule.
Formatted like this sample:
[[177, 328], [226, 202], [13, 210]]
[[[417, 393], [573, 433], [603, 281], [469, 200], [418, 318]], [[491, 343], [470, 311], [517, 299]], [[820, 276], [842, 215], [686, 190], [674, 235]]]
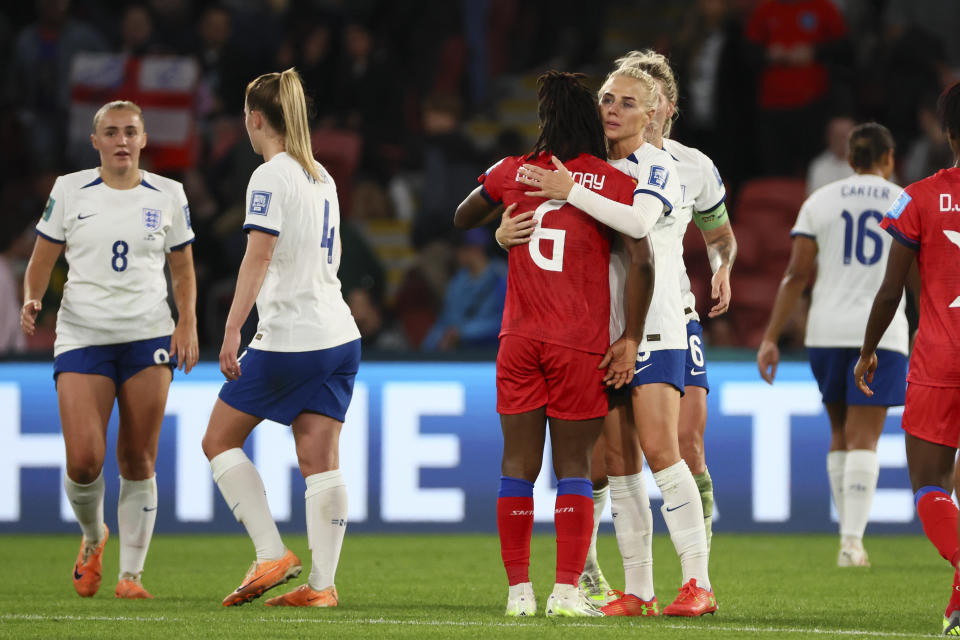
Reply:
[[591, 420], [607, 415], [603, 357], [530, 340], [500, 338], [497, 413], [512, 415], [547, 406], [548, 418]]

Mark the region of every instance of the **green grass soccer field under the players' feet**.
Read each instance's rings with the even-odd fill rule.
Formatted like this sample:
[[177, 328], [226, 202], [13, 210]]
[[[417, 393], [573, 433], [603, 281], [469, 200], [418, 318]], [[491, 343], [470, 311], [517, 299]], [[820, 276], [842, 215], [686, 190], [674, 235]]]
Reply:
[[[309, 571], [303, 536], [286, 542]], [[337, 575], [336, 609], [270, 609], [264, 599], [234, 608], [220, 600], [239, 584], [253, 549], [246, 536], [157, 535], [145, 586], [154, 600], [113, 597], [117, 545], [104, 554], [104, 581], [79, 598], [70, 570], [79, 536], [0, 537], [3, 638], [909, 638], [937, 635], [951, 572], [920, 536], [867, 537], [873, 567], [837, 569], [826, 535], [714, 537], [715, 616], [513, 620], [503, 617], [506, 578], [493, 535], [350, 535]], [[553, 586], [553, 536], [534, 537], [532, 578], [542, 616]], [[680, 583], [666, 536], [654, 541], [657, 596]], [[616, 541], [603, 535], [600, 560], [622, 586]], [[290, 588], [284, 585], [274, 593]]]

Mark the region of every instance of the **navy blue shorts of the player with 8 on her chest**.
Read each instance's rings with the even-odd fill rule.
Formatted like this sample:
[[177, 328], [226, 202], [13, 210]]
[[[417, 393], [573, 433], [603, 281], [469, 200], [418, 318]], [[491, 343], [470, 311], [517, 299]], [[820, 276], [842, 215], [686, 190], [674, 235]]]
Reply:
[[177, 358], [170, 357], [170, 336], [100, 344], [64, 351], [53, 359], [53, 379], [61, 373], [90, 373], [106, 376], [119, 388], [147, 367], [165, 364], [171, 372]]

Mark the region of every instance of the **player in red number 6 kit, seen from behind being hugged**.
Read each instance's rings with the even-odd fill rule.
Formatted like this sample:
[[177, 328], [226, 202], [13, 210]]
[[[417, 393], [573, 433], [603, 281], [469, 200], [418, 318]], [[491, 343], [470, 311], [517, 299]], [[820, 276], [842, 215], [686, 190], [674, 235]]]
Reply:
[[[549, 166], [565, 161], [584, 190], [633, 200], [634, 184], [604, 160], [603, 129], [590, 91], [569, 73], [549, 72], [539, 80], [541, 133], [533, 152], [508, 157], [480, 177], [457, 208], [455, 224], [470, 227], [488, 218], [500, 203], [535, 209], [531, 241], [510, 251], [507, 299], [497, 354], [497, 411], [503, 431], [502, 476], [497, 524], [509, 581], [507, 615], [536, 613], [529, 578], [533, 528], [533, 483], [543, 460], [549, 418], [554, 471], [558, 479], [554, 522], [557, 531], [556, 584], [548, 616], [602, 615], [577, 587], [593, 528], [590, 452], [607, 413], [604, 378], [629, 380], [649, 302], [652, 265], [646, 241], [628, 242], [631, 323], [621, 332], [626, 357], [604, 375], [609, 341], [610, 230], [576, 207], [524, 195], [518, 182], [525, 162]], [[644, 277], [644, 274], [646, 277]], [[637, 306], [639, 304], [639, 307]], [[620, 335], [620, 334], [617, 334]]]

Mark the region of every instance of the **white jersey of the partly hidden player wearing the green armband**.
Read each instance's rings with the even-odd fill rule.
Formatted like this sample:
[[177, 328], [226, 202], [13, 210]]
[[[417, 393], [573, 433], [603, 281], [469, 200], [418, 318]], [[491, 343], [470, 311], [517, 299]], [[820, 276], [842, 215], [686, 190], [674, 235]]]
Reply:
[[677, 230], [680, 241], [681, 300], [687, 321], [699, 321], [697, 299], [690, 290], [690, 278], [687, 276], [687, 267], [683, 263], [683, 236], [687, 232], [690, 221], [693, 220], [694, 212], [713, 211], [726, 200], [727, 190], [723, 186], [723, 180], [720, 179], [720, 172], [703, 152], [669, 138], [664, 138], [663, 148], [673, 156], [680, 176], [681, 200], [673, 215], [677, 218], [674, 228]]

